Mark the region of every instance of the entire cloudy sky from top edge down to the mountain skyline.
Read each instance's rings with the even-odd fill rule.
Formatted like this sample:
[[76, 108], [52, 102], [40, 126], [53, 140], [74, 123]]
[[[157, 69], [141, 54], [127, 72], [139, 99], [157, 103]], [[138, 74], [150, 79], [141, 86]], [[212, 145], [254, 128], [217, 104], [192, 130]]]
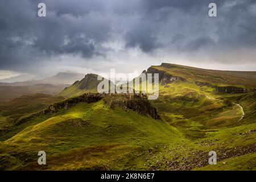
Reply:
[[136, 76], [163, 62], [256, 71], [255, 32], [255, 0], [1, 0], [0, 79], [112, 68]]

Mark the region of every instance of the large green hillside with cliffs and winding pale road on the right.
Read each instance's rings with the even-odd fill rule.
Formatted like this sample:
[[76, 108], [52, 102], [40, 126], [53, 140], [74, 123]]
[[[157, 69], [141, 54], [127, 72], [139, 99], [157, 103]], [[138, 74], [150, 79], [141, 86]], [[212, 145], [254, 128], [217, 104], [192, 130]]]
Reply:
[[[187, 145], [182, 150], [195, 150], [201, 146], [197, 150], [207, 155], [203, 149], [205, 145], [219, 151], [219, 160], [230, 158], [233, 162], [209, 169], [255, 169], [256, 72], [214, 71], [163, 63], [144, 73], [159, 73], [159, 98], [151, 100], [151, 104], [158, 109], [160, 117], [193, 141], [191, 148]], [[230, 152], [226, 155], [226, 150], [238, 154]], [[189, 157], [200, 163], [198, 166], [207, 166], [207, 157], [204, 164], [196, 156]], [[179, 163], [171, 163], [174, 167], [158, 165], [152, 169], [193, 169], [197, 165], [185, 162], [185, 159], [178, 156]], [[254, 159], [254, 162], [246, 164], [241, 159], [246, 162]]]

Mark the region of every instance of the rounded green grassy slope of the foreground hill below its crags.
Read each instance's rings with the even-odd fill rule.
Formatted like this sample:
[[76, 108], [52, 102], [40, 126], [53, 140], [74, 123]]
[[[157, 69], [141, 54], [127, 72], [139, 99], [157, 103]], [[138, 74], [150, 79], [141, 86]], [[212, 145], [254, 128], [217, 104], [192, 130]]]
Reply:
[[[166, 122], [109, 109], [102, 100], [18, 127], [0, 143], [5, 169], [146, 169], [147, 150], [159, 152], [182, 138]], [[47, 152], [47, 166], [37, 164], [39, 150]]]

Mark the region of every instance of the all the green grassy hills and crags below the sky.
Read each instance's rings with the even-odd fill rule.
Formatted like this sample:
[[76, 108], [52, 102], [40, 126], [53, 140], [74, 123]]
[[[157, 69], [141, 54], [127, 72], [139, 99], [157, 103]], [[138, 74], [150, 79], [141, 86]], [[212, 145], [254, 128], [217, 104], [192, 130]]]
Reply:
[[98, 94], [88, 74], [56, 97], [3, 105], [0, 168], [256, 170], [256, 72], [163, 63], [143, 73], [159, 73], [158, 100]]

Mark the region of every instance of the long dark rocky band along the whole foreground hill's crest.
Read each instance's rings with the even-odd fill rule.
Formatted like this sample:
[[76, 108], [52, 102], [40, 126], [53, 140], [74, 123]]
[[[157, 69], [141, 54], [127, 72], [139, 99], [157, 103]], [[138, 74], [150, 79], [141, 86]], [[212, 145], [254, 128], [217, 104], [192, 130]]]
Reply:
[[69, 109], [79, 102], [92, 103], [100, 101], [105, 98], [105, 104], [108, 103], [110, 108], [115, 105], [121, 107], [123, 110], [134, 110], [139, 114], [149, 115], [154, 119], [160, 119], [160, 116], [155, 107], [152, 107], [147, 100], [146, 94], [100, 94], [100, 93], [85, 93], [79, 97], [68, 98], [67, 100], [56, 102], [49, 105], [46, 109], [38, 113], [31, 114], [26, 118], [20, 119], [15, 125], [26, 122], [40, 114], [53, 114], [61, 109]]

